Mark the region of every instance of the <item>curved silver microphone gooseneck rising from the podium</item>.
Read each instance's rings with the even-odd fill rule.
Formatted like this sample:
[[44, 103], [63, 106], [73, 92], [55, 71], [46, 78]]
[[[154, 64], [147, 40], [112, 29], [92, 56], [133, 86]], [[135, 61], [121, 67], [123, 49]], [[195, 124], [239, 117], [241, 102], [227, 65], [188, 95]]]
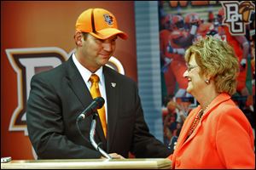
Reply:
[[111, 156], [109, 156], [102, 148], [99, 146], [99, 144], [96, 144], [95, 139], [94, 139], [94, 134], [95, 134], [95, 129], [96, 129], [96, 116], [97, 113], [92, 115], [92, 122], [90, 124], [90, 143], [93, 145], [93, 147], [100, 151], [102, 156], [107, 157], [108, 159], [113, 159]]

